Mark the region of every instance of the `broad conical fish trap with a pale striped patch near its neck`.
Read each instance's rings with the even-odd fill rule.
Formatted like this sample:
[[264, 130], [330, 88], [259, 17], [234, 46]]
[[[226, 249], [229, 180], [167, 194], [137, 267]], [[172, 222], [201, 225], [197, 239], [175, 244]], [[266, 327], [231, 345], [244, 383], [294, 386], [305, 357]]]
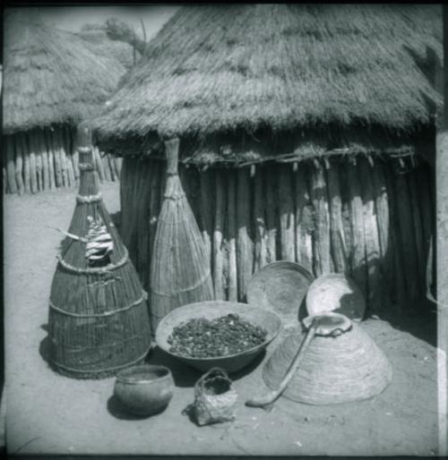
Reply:
[[151, 345], [142, 285], [99, 193], [90, 148], [80, 151], [80, 189], [51, 286], [49, 361], [80, 379], [140, 362]]

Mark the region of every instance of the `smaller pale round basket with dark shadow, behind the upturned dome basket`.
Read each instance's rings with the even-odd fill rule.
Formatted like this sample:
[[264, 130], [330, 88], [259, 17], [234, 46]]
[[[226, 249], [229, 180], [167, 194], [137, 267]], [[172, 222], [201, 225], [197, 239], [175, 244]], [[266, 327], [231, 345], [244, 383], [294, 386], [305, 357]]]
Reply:
[[342, 273], [322, 275], [314, 280], [306, 294], [309, 315], [334, 311], [360, 321], [366, 312], [366, 301], [358, 285]]

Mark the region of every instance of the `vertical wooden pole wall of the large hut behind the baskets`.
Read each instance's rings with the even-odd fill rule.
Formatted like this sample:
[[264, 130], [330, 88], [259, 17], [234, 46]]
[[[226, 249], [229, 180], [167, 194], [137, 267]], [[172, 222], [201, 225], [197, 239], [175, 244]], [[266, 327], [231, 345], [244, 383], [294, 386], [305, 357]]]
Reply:
[[[390, 303], [400, 312], [424, 297], [434, 203], [423, 166], [400, 172], [392, 162], [340, 158], [257, 166], [254, 175], [180, 168], [217, 299], [244, 300], [250, 277], [274, 260], [297, 261], [316, 277], [345, 271], [371, 312]], [[122, 233], [146, 289], [164, 175], [163, 162], [124, 160]]]

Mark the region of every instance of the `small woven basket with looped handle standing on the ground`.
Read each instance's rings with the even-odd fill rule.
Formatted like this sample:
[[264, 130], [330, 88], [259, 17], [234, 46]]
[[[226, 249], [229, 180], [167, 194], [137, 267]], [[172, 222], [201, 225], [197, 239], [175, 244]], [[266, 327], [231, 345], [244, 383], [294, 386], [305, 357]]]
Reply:
[[194, 386], [194, 417], [198, 425], [235, 420], [237, 392], [226, 371], [212, 368]]

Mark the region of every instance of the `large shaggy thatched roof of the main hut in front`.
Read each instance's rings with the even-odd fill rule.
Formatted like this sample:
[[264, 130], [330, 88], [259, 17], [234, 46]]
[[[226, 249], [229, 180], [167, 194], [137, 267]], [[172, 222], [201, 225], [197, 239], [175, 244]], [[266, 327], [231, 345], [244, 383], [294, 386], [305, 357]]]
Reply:
[[185, 6], [148, 45], [105, 114], [101, 139], [320, 130], [407, 132], [441, 97], [416, 64], [441, 58], [439, 5]]

